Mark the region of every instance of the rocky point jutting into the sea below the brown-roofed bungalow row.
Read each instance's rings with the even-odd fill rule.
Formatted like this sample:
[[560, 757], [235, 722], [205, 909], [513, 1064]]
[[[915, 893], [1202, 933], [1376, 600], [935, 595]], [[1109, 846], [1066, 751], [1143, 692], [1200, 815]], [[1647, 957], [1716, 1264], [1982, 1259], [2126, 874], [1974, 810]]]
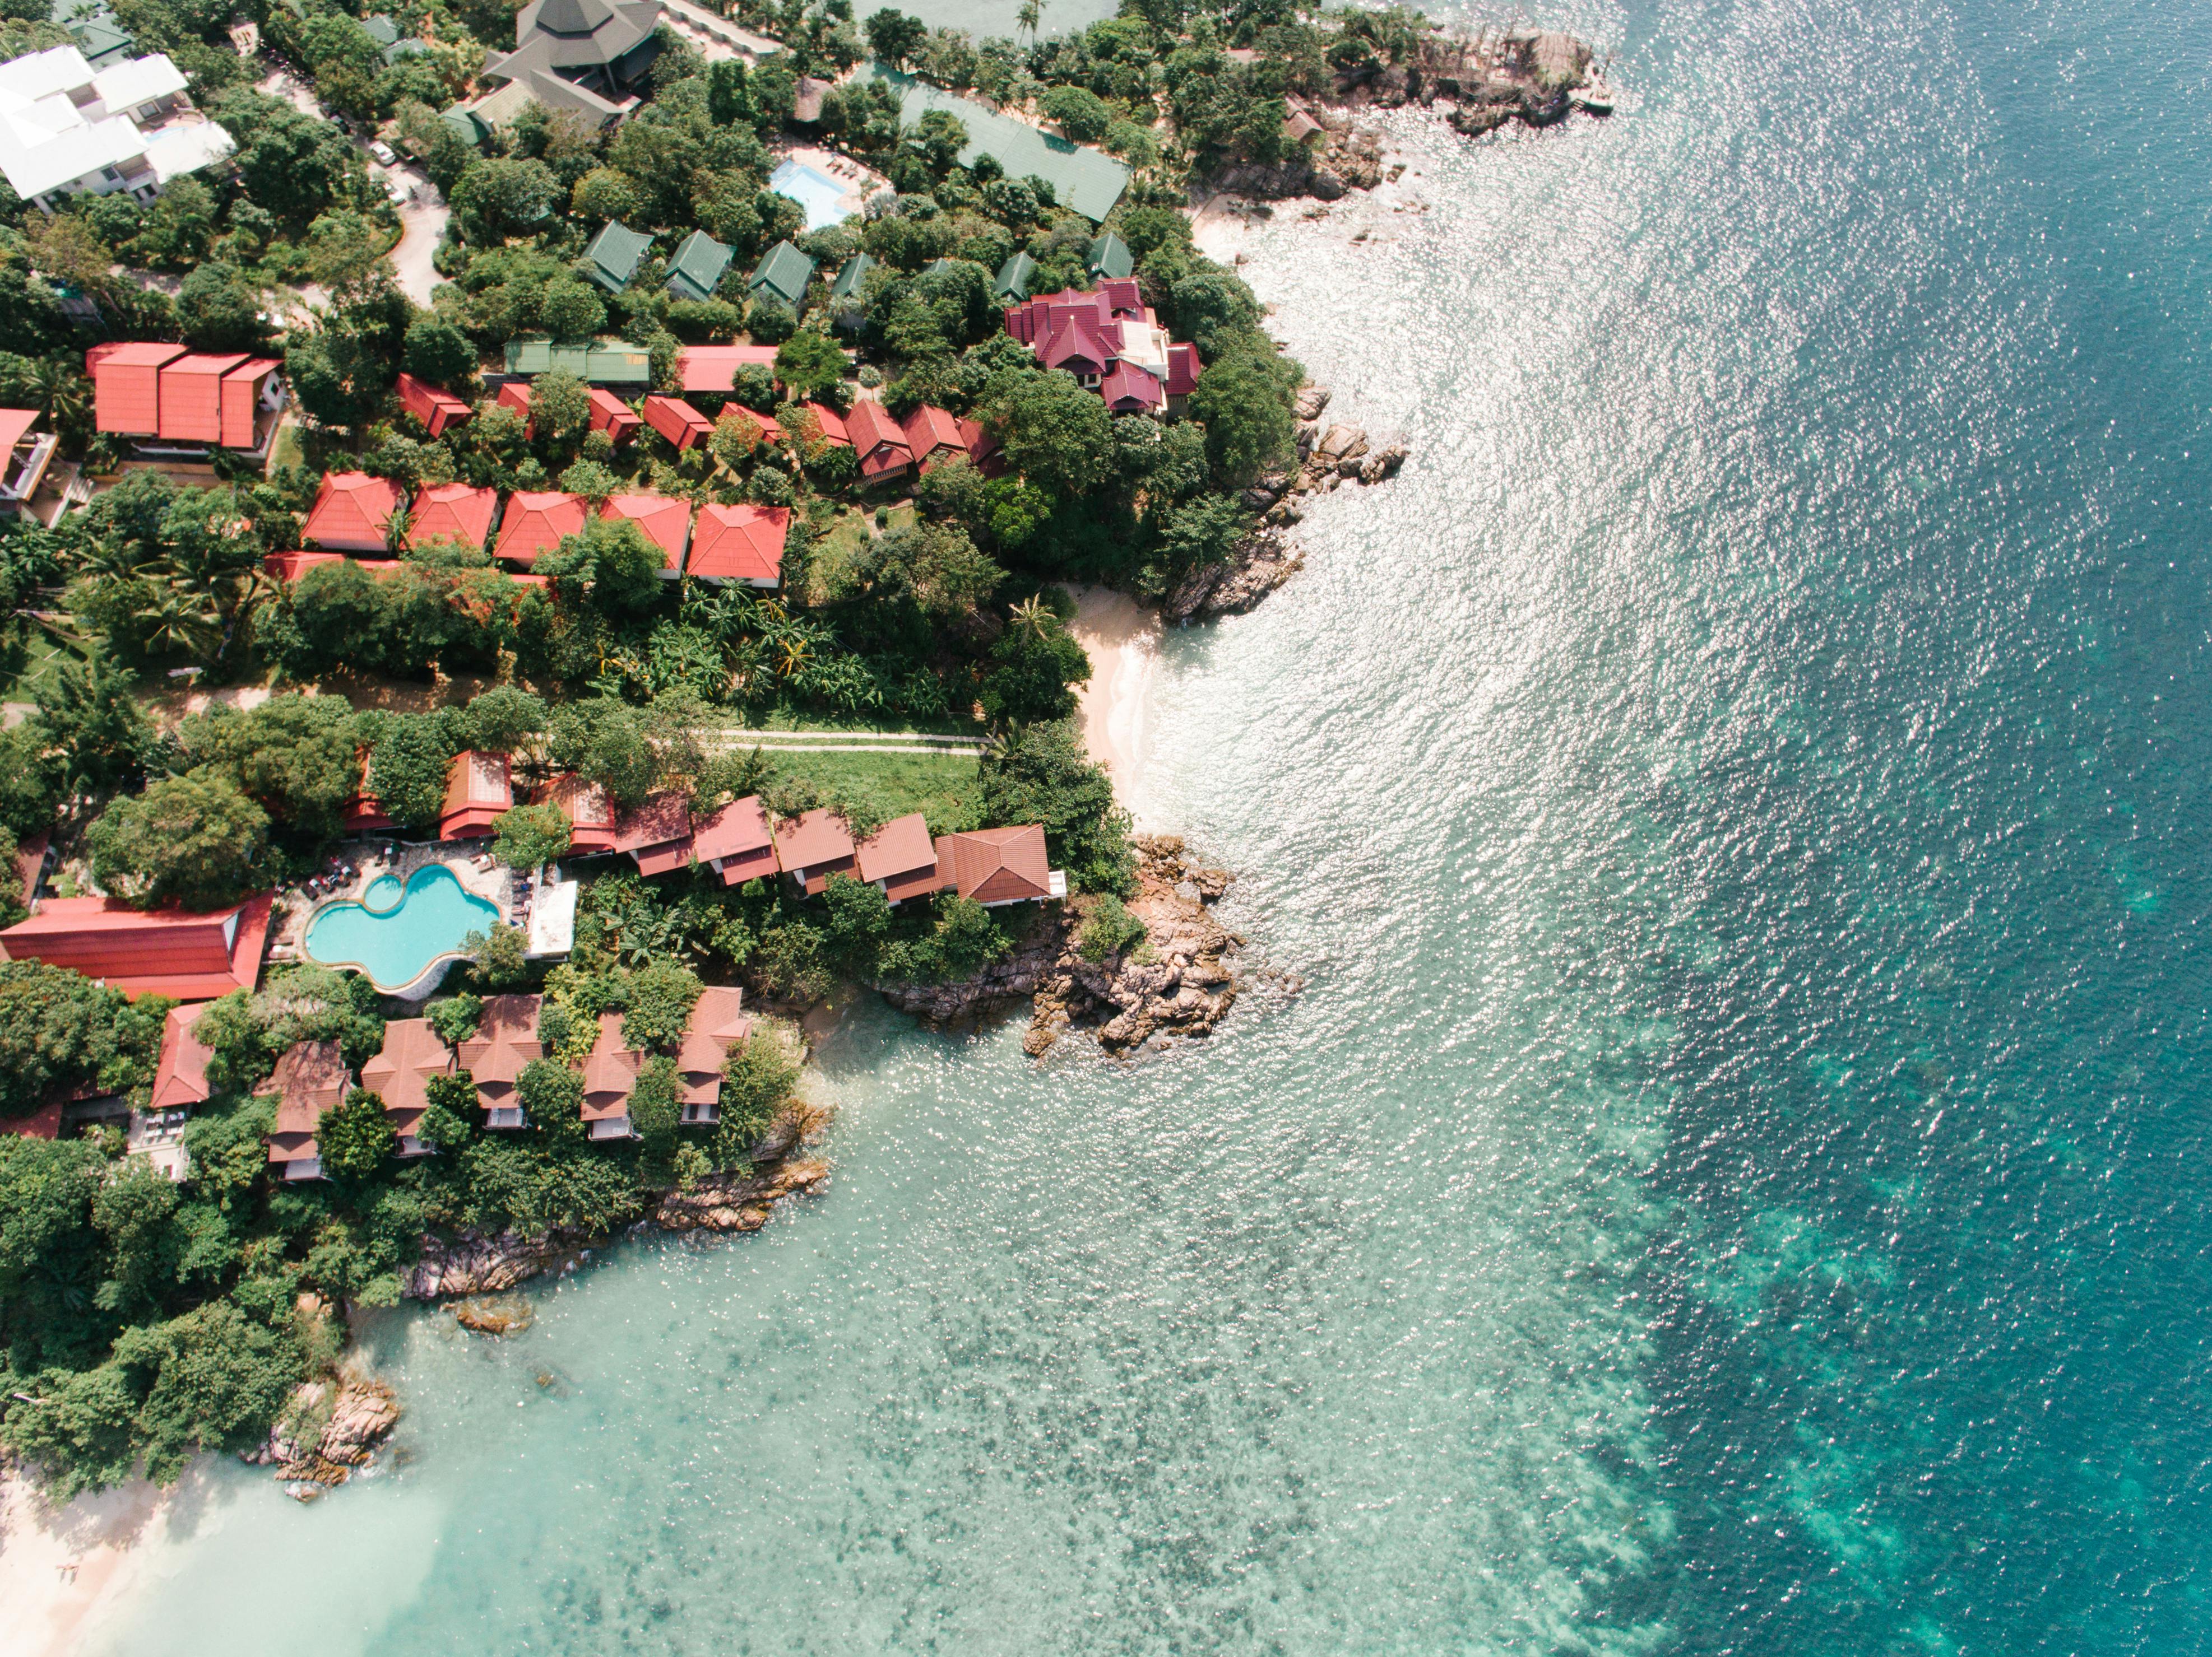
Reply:
[[1228, 869], [1186, 856], [1172, 834], [1137, 836], [1137, 896], [1128, 911], [1144, 940], [1104, 960], [1084, 960], [1077, 916], [1040, 920], [1013, 956], [960, 984], [883, 984], [891, 1007], [933, 1024], [956, 1024], [1024, 996], [1035, 998], [1022, 1049], [1044, 1053], [1062, 1033], [1088, 1029], [1108, 1053], [1168, 1046], [1206, 1035], [1237, 1002], [1230, 956], [1243, 942], [1214, 920]]

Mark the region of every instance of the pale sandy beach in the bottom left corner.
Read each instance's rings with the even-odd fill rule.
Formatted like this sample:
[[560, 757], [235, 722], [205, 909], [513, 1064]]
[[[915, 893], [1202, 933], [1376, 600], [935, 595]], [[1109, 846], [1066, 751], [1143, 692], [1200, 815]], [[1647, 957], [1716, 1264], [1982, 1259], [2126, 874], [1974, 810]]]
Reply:
[[22, 1473], [0, 1478], [0, 1657], [71, 1657], [93, 1613], [122, 1593], [133, 1549], [168, 1500], [131, 1480], [51, 1509]]

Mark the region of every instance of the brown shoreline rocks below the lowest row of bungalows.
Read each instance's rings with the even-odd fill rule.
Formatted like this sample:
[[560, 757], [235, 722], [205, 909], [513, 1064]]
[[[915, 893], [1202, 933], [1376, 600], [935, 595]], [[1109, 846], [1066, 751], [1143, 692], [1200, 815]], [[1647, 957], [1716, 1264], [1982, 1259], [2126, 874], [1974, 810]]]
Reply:
[[[818, 1137], [827, 1124], [830, 1113], [821, 1106], [799, 1102], [785, 1106], [768, 1126], [761, 1144], [754, 1146], [750, 1173], [708, 1175], [690, 1190], [664, 1190], [639, 1223], [672, 1232], [761, 1230], [779, 1201], [816, 1192], [830, 1184], [830, 1164], [801, 1155], [805, 1144]], [[422, 1254], [407, 1272], [403, 1292], [411, 1301], [504, 1294], [533, 1276], [575, 1265], [586, 1250], [604, 1241], [604, 1237], [582, 1232], [425, 1237]], [[462, 1316], [462, 1323], [469, 1319]]]

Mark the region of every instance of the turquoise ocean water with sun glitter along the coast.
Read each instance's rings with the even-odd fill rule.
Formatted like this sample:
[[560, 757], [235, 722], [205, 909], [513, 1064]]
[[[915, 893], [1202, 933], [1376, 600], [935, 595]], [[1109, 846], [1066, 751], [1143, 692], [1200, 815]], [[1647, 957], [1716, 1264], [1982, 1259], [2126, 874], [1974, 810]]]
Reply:
[[830, 1195], [385, 1319], [91, 1648], [2212, 1644], [2212, 13], [1546, 15], [1641, 104], [1250, 246], [1416, 456], [1157, 692], [1303, 993], [863, 1018]]

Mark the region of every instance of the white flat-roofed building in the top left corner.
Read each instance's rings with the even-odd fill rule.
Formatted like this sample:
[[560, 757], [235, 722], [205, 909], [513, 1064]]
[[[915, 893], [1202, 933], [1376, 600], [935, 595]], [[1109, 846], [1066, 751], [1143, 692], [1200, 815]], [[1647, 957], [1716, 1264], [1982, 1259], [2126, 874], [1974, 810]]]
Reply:
[[95, 71], [75, 46], [53, 46], [0, 64], [0, 173], [44, 212], [66, 195], [153, 201], [232, 148], [161, 53]]

